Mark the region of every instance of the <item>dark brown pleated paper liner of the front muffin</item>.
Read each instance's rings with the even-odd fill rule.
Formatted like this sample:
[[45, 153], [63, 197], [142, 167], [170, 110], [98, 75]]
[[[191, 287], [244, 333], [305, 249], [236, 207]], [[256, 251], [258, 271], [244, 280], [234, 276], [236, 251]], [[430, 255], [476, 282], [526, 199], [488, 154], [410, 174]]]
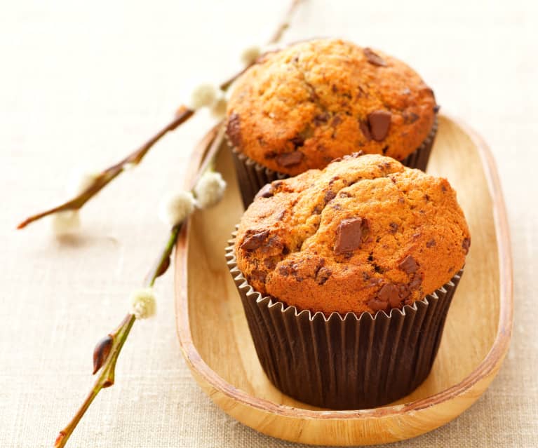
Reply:
[[253, 290], [237, 268], [233, 239], [226, 258], [271, 383], [296, 400], [330, 409], [386, 405], [426, 379], [463, 274], [401, 310], [327, 317]]

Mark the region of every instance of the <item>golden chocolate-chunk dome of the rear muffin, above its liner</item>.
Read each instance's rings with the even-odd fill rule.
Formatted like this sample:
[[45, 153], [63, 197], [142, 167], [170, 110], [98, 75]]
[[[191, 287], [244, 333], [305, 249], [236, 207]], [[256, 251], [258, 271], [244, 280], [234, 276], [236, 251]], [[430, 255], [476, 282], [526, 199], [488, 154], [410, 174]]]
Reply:
[[339, 39], [266, 53], [234, 86], [227, 137], [287, 175], [361, 150], [403, 160], [429, 137], [433, 90], [403, 62]]

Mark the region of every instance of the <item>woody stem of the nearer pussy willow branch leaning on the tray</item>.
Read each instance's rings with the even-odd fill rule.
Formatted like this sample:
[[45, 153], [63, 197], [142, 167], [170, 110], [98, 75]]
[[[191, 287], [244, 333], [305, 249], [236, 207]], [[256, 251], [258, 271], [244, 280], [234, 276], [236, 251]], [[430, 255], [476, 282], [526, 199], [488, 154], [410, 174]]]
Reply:
[[[214, 163], [217, 151], [222, 144], [222, 141], [224, 139], [224, 126], [222, 125], [222, 123], [217, 126], [218, 128], [215, 127], [213, 129], [214, 131], [218, 129], [217, 133], [213, 140], [210, 142], [206, 154], [203, 157], [203, 161], [201, 163], [201, 168], [198, 172], [198, 175], [193, 179], [191, 183], [191, 189], [193, 189], [194, 185], [196, 185], [196, 181], [201, 175], [201, 173], [210, 168], [211, 165]], [[152, 266], [152, 269], [150, 269], [144, 282], [144, 286], [152, 287], [155, 284], [155, 280], [161, 275], [163, 275], [163, 273], [166, 272], [166, 269], [168, 269], [168, 266], [170, 265], [170, 255], [172, 254], [181, 227], [182, 224], [177, 224], [177, 226], [174, 226], [170, 231], [168, 241], [166, 242], [166, 245], [163, 250], [161, 250], [161, 253], [157, 257], [154, 265]], [[121, 322], [119, 327], [117, 327], [116, 330], [110, 333], [106, 338], [109, 341], [112, 339], [112, 346], [106, 348], [107, 355], [105, 360], [103, 360], [104, 362], [102, 366], [95, 367], [95, 371], [93, 373], [95, 374], [100, 370], [100, 374], [97, 377], [95, 383], [93, 384], [93, 388], [90, 390], [90, 393], [88, 393], [88, 395], [86, 396], [86, 400], [84, 400], [81, 407], [79, 407], [79, 410], [76, 412], [73, 419], [64, 429], [60, 431], [60, 434], [58, 434], [58, 437], [56, 438], [56, 442], [54, 444], [54, 448], [65, 447], [67, 440], [69, 440], [69, 437], [72, 435], [74, 429], [79, 424], [79, 421], [82, 419], [83, 415], [88, 410], [88, 407], [90, 407], [95, 397], [97, 397], [97, 394], [101, 391], [101, 389], [110, 387], [114, 384], [116, 361], [118, 360], [121, 348], [123, 347], [123, 344], [125, 344], [125, 341], [127, 340], [130, 329], [131, 327], [133, 327], [135, 320], [135, 316], [131, 313], [128, 313], [125, 318], [123, 318], [123, 321]], [[99, 344], [97, 345], [99, 346]]]

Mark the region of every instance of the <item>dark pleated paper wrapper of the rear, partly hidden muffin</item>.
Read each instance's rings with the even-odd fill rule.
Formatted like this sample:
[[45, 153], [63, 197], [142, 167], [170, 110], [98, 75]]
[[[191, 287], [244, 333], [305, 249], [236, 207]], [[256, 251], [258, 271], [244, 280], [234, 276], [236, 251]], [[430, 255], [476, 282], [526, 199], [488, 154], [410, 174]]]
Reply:
[[[431, 148], [435, 140], [437, 133], [437, 118], [433, 123], [431, 131], [426, 137], [426, 140], [415, 149], [409, 156], [403, 159], [401, 163], [409, 168], [418, 168], [425, 171], [428, 165], [429, 157], [431, 154]], [[234, 147], [228, 140], [228, 144], [231, 147], [231, 153], [234, 157], [234, 165], [236, 168], [237, 179], [239, 182], [239, 189], [241, 189], [241, 196], [243, 198], [243, 205], [247, 208], [253, 201], [254, 196], [260, 191], [262, 186], [269, 184], [275, 180], [286, 179], [290, 175], [260, 165], [243, 154], [239, 149]]]

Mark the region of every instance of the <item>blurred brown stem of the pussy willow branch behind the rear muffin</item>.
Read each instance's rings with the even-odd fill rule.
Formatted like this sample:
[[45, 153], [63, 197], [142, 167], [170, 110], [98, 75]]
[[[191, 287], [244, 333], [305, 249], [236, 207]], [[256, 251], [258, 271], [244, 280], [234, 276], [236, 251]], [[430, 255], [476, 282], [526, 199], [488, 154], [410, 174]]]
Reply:
[[[300, 2], [302, 0], [292, 0], [290, 4], [290, 8], [288, 8], [287, 13], [285, 14], [283, 20], [278, 24], [278, 27], [276, 29], [275, 34], [271, 37], [269, 40], [269, 43], [278, 43], [280, 39], [282, 38], [283, 33], [286, 29], [290, 26], [290, 20], [292, 18], [293, 13], [297, 9], [297, 6], [299, 6]], [[221, 90], [228, 90], [229, 86], [231, 86], [234, 81], [243, 74], [246, 69], [254, 65], [255, 62], [245, 67], [241, 72], [238, 72], [237, 74], [234, 74], [234, 76], [231, 76], [230, 79], [227, 79], [227, 81], [224, 81], [222, 84], [220, 84]], [[24, 229], [28, 224], [35, 222], [43, 217], [46, 217], [48, 215], [53, 215], [54, 213], [58, 212], [64, 212], [66, 210], [79, 210], [83, 207], [84, 204], [86, 204], [93, 196], [95, 196], [101, 189], [103, 189], [109, 182], [112, 182], [116, 177], [118, 177], [121, 172], [126, 170], [126, 166], [134, 164], [137, 165], [142, 161], [142, 158], [147, 154], [149, 149], [152, 149], [154, 144], [156, 142], [159, 142], [161, 138], [166, 135], [168, 132], [177, 129], [182, 123], [187, 121], [191, 116], [195, 114], [196, 111], [193, 111], [191, 109], [188, 109], [185, 106], [181, 106], [176, 113], [175, 118], [173, 121], [170, 121], [168, 125], [166, 125], [163, 129], [159, 131], [159, 133], [156, 133], [154, 137], [149, 139], [145, 144], [140, 147], [140, 149], [137, 149], [133, 153], [129, 154], [126, 158], [123, 158], [123, 160], [119, 161], [115, 165], [110, 166], [106, 170], [100, 172], [97, 177], [95, 177], [94, 181], [88, 188], [84, 191], [82, 191], [77, 196], [74, 196], [74, 198], [70, 199], [69, 201], [62, 203], [56, 207], [50, 208], [48, 210], [45, 210], [43, 212], [36, 213], [35, 215], [32, 215], [30, 217], [27, 217], [24, 221], [20, 222], [17, 226], [17, 229]]]

